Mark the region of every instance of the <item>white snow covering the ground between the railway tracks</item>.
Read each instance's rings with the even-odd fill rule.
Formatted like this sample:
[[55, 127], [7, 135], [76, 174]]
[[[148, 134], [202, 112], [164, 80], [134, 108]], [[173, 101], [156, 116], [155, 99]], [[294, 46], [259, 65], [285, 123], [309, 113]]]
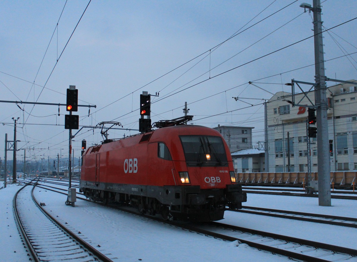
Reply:
[[[1, 187], [1, 186], [0, 186]], [[0, 190], [0, 260], [28, 261], [12, 212], [12, 199], [19, 189], [7, 185]], [[136, 215], [77, 199], [76, 206], [66, 206], [66, 196], [37, 188], [35, 197], [58, 216], [71, 230], [114, 261], [289, 261], [285, 257], [257, 251], [245, 244], [227, 242], [164, 225]], [[318, 206], [318, 199], [248, 194], [247, 206], [357, 217], [357, 201], [332, 199], [332, 207]], [[226, 212], [220, 222], [302, 237], [333, 245], [357, 248], [357, 228], [345, 228], [312, 222]], [[8, 226], [9, 225], [9, 226]], [[10, 237], [11, 235], [11, 237]], [[16, 251], [16, 253], [15, 253]]]

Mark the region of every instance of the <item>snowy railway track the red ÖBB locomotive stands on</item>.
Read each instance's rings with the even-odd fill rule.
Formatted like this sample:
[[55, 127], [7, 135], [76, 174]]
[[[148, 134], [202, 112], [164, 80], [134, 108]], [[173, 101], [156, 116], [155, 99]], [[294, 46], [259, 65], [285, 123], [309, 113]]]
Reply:
[[[60, 193], [66, 194], [64, 192]], [[81, 197], [78, 198], [83, 199]], [[255, 247], [258, 250], [287, 256], [292, 260], [302, 260], [307, 262], [357, 261], [357, 251], [351, 248], [339, 247], [295, 237], [277, 235], [269, 232], [252, 230], [249, 228], [241, 228], [218, 222], [211, 222], [209, 224], [192, 224], [176, 221], [162, 221], [162, 219], [159, 217], [140, 214], [134, 208], [119, 206], [110, 207], [138, 216], [146, 217], [151, 220], [180, 227], [187, 231], [197, 232], [209, 237], [220, 238], [226, 241], [237, 241], [237, 245], [239, 245], [239, 243], [246, 243], [247, 245]]]

